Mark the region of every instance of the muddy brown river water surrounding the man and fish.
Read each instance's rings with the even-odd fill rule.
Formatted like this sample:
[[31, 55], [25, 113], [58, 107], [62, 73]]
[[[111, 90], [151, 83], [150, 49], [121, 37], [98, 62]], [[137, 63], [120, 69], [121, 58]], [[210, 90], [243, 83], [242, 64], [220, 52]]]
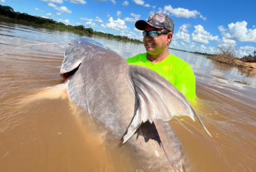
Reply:
[[[65, 98], [19, 104], [63, 83], [66, 45], [81, 35], [8, 22], [0, 21], [0, 171], [113, 171], [118, 164]], [[124, 58], [145, 51], [143, 45], [93, 39]], [[170, 120], [196, 171], [256, 171], [256, 71], [170, 52], [194, 69], [198, 98], [192, 106], [212, 134], [189, 118]]]

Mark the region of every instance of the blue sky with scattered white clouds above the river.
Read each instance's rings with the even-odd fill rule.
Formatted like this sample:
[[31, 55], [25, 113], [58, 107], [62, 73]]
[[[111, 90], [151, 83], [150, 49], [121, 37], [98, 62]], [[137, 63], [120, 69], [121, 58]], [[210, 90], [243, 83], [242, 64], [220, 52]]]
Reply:
[[172, 48], [214, 54], [217, 46], [233, 46], [238, 57], [256, 50], [256, 0], [0, 0], [0, 4], [140, 41], [142, 32], [135, 22], [165, 13], [174, 21]]

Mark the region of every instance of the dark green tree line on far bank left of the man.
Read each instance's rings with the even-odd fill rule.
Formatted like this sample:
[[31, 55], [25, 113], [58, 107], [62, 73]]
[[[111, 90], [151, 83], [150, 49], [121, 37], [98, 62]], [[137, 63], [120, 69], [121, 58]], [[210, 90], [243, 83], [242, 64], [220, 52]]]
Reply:
[[109, 38], [118, 39], [118, 40], [122, 40], [122, 41], [131, 41], [134, 43], [142, 43], [138, 39], [130, 39], [127, 36], [113, 35], [113, 34], [109, 34], [109, 33], [97, 32], [97, 31], [94, 31], [92, 28], [84, 28], [84, 25], [75, 25], [75, 26], [66, 25], [65, 23], [54, 21], [53, 19], [46, 19], [44, 17], [31, 16], [27, 13], [15, 12], [15, 10], [13, 10], [13, 8], [11, 8], [10, 6], [1, 6], [0, 5], [0, 14], [3, 16], [6, 16], [6, 17], [10, 17], [12, 19], [24, 20], [24, 21], [28, 21], [28, 22], [41, 24], [41, 25], [48, 25], [48, 26], [52, 26], [53, 28], [75, 30], [75, 31], [84, 32], [85, 34], [97, 34], [100, 36], [107, 36]]

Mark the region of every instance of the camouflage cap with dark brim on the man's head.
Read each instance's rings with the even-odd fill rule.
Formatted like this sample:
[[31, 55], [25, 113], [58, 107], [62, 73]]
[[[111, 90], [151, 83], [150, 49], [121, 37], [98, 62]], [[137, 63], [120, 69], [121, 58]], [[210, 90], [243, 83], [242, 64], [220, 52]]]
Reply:
[[154, 13], [147, 21], [136, 21], [135, 27], [138, 30], [145, 30], [146, 25], [151, 25], [154, 28], [165, 29], [170, 32], [174, 32], [174, 22], [166, 14]]

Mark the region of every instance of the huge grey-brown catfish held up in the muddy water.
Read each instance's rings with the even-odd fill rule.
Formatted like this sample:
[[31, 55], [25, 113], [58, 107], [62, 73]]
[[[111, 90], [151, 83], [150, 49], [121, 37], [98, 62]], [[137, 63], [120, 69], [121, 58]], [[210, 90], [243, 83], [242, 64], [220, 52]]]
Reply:
[[[124, 166], [122, 171], [192, 171], [167, 121], [173, 116], [201, 120], [165, 78], [129, 65], [87, 38], [71, 41], [60, 74], [71, 103], [84, 110], [111, 160]], [[111, 155], [111, 150], [118, 154]], [[131, 157], [132, 166], [122, 161], [123, 155]]]

